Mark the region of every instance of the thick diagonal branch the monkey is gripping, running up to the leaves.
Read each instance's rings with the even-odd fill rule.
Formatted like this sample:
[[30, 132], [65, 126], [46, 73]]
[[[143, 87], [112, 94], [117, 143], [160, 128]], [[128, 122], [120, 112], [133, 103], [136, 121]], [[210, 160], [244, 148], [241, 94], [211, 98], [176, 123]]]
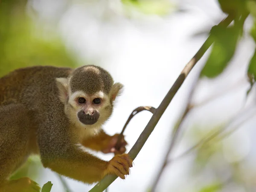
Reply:
[[[223, 20], [220, 25], [228, 26], [233, 20], [233, 17], [228, 15], [225, 20]], [[159, 107], [155, 110], [154, 114], [152, 115], [151, 119], [149, 120], [148, 124], [144, 128], [143, 132], [140, 134], [140, 137], [134, 144], [134, 146], [131, 148], [131, 150], [128, 152], [131, 159], [135, 159], [137, 157], [137, 154], [140, 152], [141, 148], [145, 144], [146, 140], [148, 139], [149, 135], [154, 130], [155, 126], [157, 125], [157, 122], [159, 121], [160, 117], [163, 115], [164, 111], [172, 101], [173, 97], [183, 84], [184, 80], [188, 76], [189, 72], [192, 70], [192, 68], [195, 66], [195, 64], [201, 59], [201, 57], [204, 55], [204, 53], [209, 49], [211, 44], [213, 43], [212, 39], [207, 38], [207, 40], [204, 42], [202, 47], [198, 50], [198, 52], [195, 54], [195, 56], [189, 61], [188, 64], [184, 67], [184, 69], [181, 71], [180, 75], [176, 79], [175, 83], [172, 85], [169, 92], [166, 94], [163, 101], [160, 103]], [[89, 192], [103, 192], [111, 183], [113, 183], [114, 180], [116, 180], [116, 175], [106, 175], [99, 183], [97, 183]]]

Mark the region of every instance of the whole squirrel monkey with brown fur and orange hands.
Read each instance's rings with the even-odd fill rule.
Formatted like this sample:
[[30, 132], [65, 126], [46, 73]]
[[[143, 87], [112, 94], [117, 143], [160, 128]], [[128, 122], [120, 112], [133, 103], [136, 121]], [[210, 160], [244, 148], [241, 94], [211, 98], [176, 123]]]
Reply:
[[[101, 67], [36, 66], [0, 78], [0, 192], [39, 192], [27, 177], [8, 180], [30, 154], [39, 154], [44, 167], [61, 175], [94, 183], [107, 174], [122, 179], [132, 160], [122, 138], [109, 136], [102, 124], [111, 116], [122, 90]], [[105, 161], [84, 150], [116, 155]]]

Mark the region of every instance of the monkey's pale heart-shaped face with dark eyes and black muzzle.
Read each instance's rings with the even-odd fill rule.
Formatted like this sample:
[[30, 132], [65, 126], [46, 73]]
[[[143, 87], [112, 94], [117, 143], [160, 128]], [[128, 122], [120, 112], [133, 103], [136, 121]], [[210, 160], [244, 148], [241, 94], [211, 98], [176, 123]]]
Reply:
[[111, 100], [102, 91], [93, 95], [76, 91], [71, 94], [66, 108], [83, 125], [102, 125], [112, 113]]

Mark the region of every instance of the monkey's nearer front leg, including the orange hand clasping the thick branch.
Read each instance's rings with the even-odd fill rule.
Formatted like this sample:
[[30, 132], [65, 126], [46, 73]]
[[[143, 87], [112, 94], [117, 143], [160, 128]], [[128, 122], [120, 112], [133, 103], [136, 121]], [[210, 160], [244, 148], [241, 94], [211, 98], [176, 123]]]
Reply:
[[129, 168], [132, 167], [128, 154], [116, 155], [110, 161], [104, 161], [75, 146], [61, 151], [62, 154], [59, 152], [58, 155], [41, 155], [44, 167], [84, 183], [97, 182], [108, 174], [125, 179], [125, 175], [129, 175]]

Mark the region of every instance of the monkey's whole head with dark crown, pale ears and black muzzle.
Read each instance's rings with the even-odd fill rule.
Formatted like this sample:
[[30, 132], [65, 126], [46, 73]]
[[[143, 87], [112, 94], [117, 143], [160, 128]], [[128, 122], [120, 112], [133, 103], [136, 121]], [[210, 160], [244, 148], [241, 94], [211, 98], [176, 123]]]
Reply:
[[69, 119], [84, 127], [99, 127], [112, 114], [113, 101], [123, 85], [113, 83], [101, 67], [79, 67], [68, 78], [57, 78], [61, 102]]

